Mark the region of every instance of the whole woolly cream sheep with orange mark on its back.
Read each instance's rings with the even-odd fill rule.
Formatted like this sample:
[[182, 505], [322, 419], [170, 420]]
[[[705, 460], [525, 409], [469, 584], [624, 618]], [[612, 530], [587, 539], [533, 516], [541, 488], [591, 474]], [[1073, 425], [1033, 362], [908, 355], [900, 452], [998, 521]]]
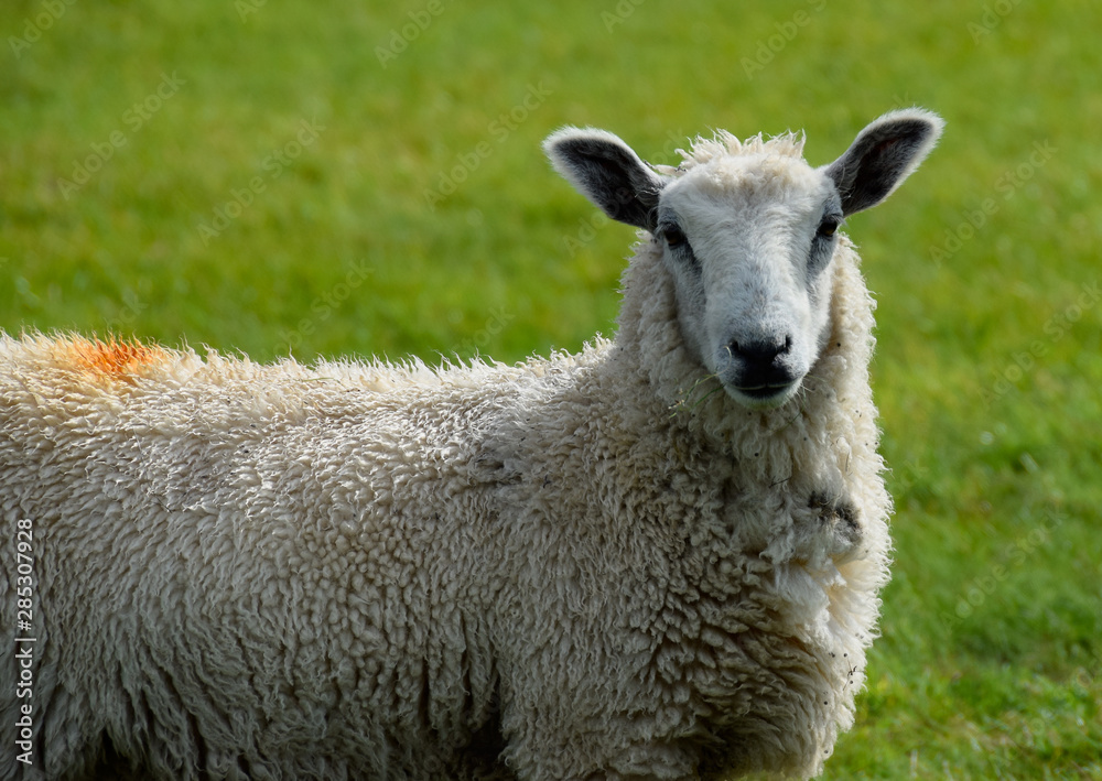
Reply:
[[889, 558], [840, 228], [941, 128], [890, 112], [822, 167], [793, 133], [674, 169], [555, 132], [640, 230], [615, 337], [576, 355], [2, 335], [0, 777], [819, 773]]

